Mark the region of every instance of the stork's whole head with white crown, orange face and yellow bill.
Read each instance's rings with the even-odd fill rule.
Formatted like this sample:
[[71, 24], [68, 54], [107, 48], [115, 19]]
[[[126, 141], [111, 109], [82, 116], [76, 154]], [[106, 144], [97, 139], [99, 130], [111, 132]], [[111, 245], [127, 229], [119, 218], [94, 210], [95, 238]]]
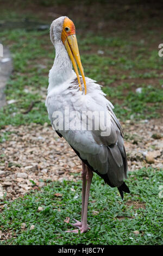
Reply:
[[76, 38], [76, 28], [74, 26], [74, 23], [70, 19], [68, 19], [68, 17], [66, 16], [59, 17], [58, 19], [52, 22], [52, 25], [50, 28], [50, 36], [54, 46], [55, 44], [57, 44], [57, 42], [60, 42], [60, 41], [62, 41], [62, 43], [65, 45], [68, 56], [70, 57], [74, 70], [76, 71], [80, 90], [82, 90], [79, 72], [77, 68], [77, 65], [78, 65], [80, 73], [83, 78], [85, 94], [86, 94], [85, 76], [84, 76], [82, 62], [80, 60], [78, 42]]

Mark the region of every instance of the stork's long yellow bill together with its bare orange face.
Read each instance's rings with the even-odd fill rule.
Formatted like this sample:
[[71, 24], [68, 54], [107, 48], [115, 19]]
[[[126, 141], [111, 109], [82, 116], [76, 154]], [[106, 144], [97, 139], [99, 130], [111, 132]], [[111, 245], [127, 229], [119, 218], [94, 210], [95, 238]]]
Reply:
[[[66, 31], [66, 29], [68, 31]], [[68, 56], [71, 59], [73, 68], [77, 74], [80, 90], [82, 91], [82, 85], [80, 82], [79, 71], [78, 71], [78, 67], [79, 67], [80, 73], [83, 78], [85, 94], [86, 94], [86, 82], [85, 82], [85, 76], [84, 76], [82, 62], [80, 60], [80, 54], [79, 54], [78, 42], [77, 42], [77, 38], [76, 38], [76, 34], [75, 34], [75, 28], [74, 28], [73, 22], [68, 18], [66, 18], [65, 22], [64, 22], [63, 31], [62, 31], [62, 41], [64, 42]], [[78, 67], [77, 67], [77, 65], [78, 65]]]

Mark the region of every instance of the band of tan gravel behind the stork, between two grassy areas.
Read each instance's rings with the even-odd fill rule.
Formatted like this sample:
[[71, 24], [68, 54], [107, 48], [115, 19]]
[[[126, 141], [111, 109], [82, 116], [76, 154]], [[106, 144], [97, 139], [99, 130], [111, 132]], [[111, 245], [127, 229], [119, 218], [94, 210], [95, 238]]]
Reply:
[[[126, 133], [129, 170], [149, 166], [158, 170], [162, 168], [161, 120], [135, 124], [128, 120], [122, 126]], [[79, 158], [46, 123], [44, 126], [9, 125], [1, 133], [7, 131], [11, 135], [1, 144], [0, 200], [3, 201], [5, 193], [7, 199], [14, 200], [32, 189], [40, 189], [49, 180], [76, 182], [81, 178]], [[3, 205], [0, 210], [1, 207]]]

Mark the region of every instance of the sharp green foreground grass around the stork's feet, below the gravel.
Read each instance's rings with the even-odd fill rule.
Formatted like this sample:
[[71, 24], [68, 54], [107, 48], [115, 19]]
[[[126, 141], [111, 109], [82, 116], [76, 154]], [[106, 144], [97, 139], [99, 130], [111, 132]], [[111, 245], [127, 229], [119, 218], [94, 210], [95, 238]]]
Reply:
[[[159, 197], [162, 173], [156, 169], [141, 169], [129, 175], [131, 194], [124, 200], [117, 188], [104, 185], [96, 174], [91, 185], [88, 223], [91, 230], [84, 234], [67, 234], [73, 229], [65, 217], [80, 220], [82, 180], [49, 182], [40, 191], [33, 191], [14, 202], [4, 201], [0, 215], [0, 230], [11, 238], [3, 245], [161, 245], [162, 202]], [[71, 190], [73, 188], [73, 191]], [[75, 190], [75, 191], [74, 191]], [[62, 197], [55, 197], [55, 193]], [[76, 195], [79, 197], [76, 199]], [[93, 201], [93, 202], [92, 202]], [[139, 203], [140, 208], [135, 209]], [[38, 211], [42, 206], [43, 210]], [[98, 211], [93, 215], [93, 210]], [[119, 218], [118, 218], [119, 217]], [[123, 218], [122, 218], [123, 217]], [[26, 229], [21, 224], [26, 223]], [[35, 225], [30, 230], [30, 225]], [[133, 232], [139, 231], [138, 235]]]

